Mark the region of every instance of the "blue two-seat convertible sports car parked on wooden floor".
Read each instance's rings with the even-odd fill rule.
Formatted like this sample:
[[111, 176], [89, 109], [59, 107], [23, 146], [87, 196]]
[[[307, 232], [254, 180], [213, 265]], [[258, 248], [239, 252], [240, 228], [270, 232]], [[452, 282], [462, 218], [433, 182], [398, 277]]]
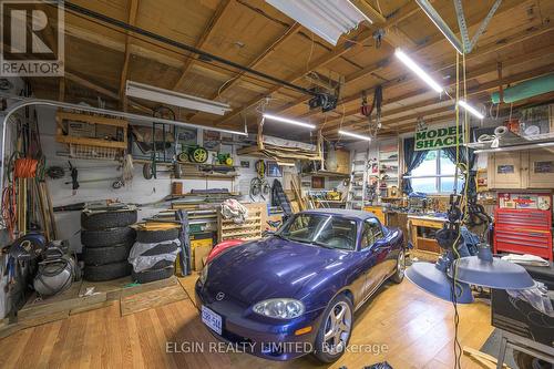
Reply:
[[348, 346], [353, 312], [384, 280], [403, 276], [401, 230], [371, 213], [306, 211], [274, 235], [211, 259], [196, 303], [228, 345], [273, 360], [312, 352], [332, 362]]

